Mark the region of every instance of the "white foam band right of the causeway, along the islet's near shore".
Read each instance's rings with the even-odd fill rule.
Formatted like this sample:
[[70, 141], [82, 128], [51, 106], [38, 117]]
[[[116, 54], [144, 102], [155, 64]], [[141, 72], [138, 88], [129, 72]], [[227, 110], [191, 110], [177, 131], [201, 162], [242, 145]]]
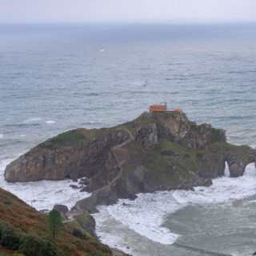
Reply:
[[[229, 170], [226, 170], [226, 175]], [[171, 230], [162, 226], [166, 215], [174, 213], [189, 205], [218, 204], [230, 200], [247, 198], [256, 194], [256, 170], [254, 164], [246, 167], [245, 174], [240, 178], [228, 176], [216, 178], [210, 187], [195, 187], [190, 190], [173, 190], [153, 194], [138, 194], [134, 201], [119, 200], [114, 206], [100, 206], [95, 214], [97, 234], [102, 242], [110, 246], [118, 245], [123, 249], [120, 234], [115, 236], [103, 228], [105, 219], [112, 218], [116, 223], [126, 226], [129, 230], [162, 244], [172, 244], [178, 238]]]

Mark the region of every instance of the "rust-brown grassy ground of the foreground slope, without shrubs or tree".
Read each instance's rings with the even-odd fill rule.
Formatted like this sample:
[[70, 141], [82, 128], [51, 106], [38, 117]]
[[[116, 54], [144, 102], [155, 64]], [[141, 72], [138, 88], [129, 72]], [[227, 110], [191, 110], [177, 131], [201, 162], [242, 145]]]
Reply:
[[[42, 238], [49, 236], [46, 216], [2, 189], [0, 189], [0, 221], [10, 223], [22, 233], [36, 234]], [[85, 239], [75, 238], [69, 232], [71, 227], [70, 224], [64, 226], [56, 238], [56, 246], [62, 255], [94, 256], [100, 253], [104, 256], [112, 255], [107, 246], [94, 238], [89, 236]], [[1, 254], [11, 255], [11, 252], [0, 247]]]

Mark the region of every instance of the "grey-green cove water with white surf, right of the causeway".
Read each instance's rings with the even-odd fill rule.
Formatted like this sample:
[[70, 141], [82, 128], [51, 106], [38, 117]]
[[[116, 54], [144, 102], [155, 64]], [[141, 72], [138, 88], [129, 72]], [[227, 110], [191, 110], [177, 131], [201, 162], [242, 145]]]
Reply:
[[98, 209], [94, 217], [102, 242], [134, 256], [250, 255], [256, 235], [255, 166], [248, 165], [241, 178], [229, 178], [226, 167], [226, 176], [210, 187], [138, 194], [134, 201]]

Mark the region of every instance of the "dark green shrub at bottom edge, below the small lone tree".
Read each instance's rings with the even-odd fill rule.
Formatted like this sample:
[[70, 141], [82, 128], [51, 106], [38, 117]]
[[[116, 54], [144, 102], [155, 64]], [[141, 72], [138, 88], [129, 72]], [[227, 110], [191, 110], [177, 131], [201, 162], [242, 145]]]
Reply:
[[22, 238], [18, 251], [26, 256], [57, 256], [58, 253], [49, 241], [36, 236]]

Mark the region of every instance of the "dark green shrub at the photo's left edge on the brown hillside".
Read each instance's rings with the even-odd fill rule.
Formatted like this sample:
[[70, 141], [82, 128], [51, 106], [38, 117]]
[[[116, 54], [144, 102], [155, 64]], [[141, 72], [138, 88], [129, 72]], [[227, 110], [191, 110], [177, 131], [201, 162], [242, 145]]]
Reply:
[[12, 226], [2, 222], [0, 224], [0, 243], [10, 250], [17, 250], [20, 243], [20, 235]]

